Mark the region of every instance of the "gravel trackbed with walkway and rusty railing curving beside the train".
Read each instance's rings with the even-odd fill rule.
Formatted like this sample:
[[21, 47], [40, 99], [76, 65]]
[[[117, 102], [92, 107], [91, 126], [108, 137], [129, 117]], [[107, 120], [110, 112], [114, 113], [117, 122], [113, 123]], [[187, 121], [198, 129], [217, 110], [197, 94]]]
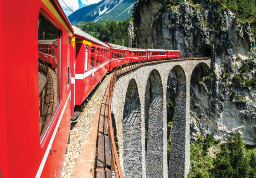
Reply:
[[[71, 131], [70, 131], [70, 144], [67, 147], [64, 166], [62, 169], [62, 178], [70, 178], [70, 177], [81, 177], [86, 174], [86, 177], [95, 177], [95, 172], [97, 177], [109, 177], [109, 172], [112, 171], [112, 177], [123, 178], [123, 173], [121, 170], [120, 162], [119, 162], [119, 154], [116, 148], [116, 142], [114, 137], [114, 130], [112, 124], [111, 117], [111, 102], [112, 96], [114, 93], [114, 87], [116, 79], [119, 75], [126, 73], [130, 70], [134, 70], [140, 66], [149, 65], [153, 63], [162, 63], [168, 61], [185, 61], [185, 60], [201, 60], [201, 59], [211, 59], [210, 57], [203, 56], [183, 56], [178, 59], [156, 59], [152, 61], [139, 61], [135, 63], [128, 63], [128, 65], [122, 65], [116, 68], [110, 75], [107, 75], [102, 84], [100, 84], [99, 88], [94, 91], [91, 100], [87, 103], [85, 108], [83, 109], [81, 115], [78, 117], [76, 121], [71, 122]], [[106, 122], [108, 120], [108, 122]], [[114, 122], [114, 120], [113, 120]], [[111, 139], [111, 155], [109, 155], [108, 149], [100, 149], [106, 148], [102, 139], [106, 133], [106, 127], [108, 124], [108, 136]], [[88, 135], [89, 129], [90, 134]], [[95, 127], [95, 129], [94, 129]], [[92, 139], [91, 133], [97, 132], [96, 139], [94, 141]], [[86, 138], [88, 140], [86, 140]], [[95, 145], [92, 145], [92, 148], [85, 146], [86, 144], [92, 144], [91, 142], [95, 142]], [[101, 142], [101, 143], [100, 143]], [[86, 148], [86, 149], [85, 149]], [[88, 151], [90, 150], [91, 151]], [[91, 156], [87, 156], [85, 159], [89, 159], [91, 157], [94, 160], [89, 160], [91, 163], [85, 163], [86, 160], [82, 160], [83, 158], [78, 158], [79, 155], [83, 156], [85, 152], [93, 152]], [[88, 153], [91, 154], [91, 153]], [[109, 161], [106, 157], [111, 156], [111, 166], [109, 166]], [[80, 160], [80, 161], [79, 161]], [[113, 161], [114, 160], [114, 161]], [[85, 165], [82, 165], [85, 164]], [[76, 166], [77, 165], [77, 166]], [[89, 165], [89, 166], [88, 166]], [[77, 167], [77, 168], [76, 168]], [[79, 172], [79, 170], [81, 171]], [[86, 169], [86, 170], [85, 170]], [[88, 169], [88, 170], [87, 170]], [[89, 174], [90, 170], [90, 174]], [[83, 172], [83, 173], [81, 173]], [[84, 174], [85, 173], [85, 174]]]

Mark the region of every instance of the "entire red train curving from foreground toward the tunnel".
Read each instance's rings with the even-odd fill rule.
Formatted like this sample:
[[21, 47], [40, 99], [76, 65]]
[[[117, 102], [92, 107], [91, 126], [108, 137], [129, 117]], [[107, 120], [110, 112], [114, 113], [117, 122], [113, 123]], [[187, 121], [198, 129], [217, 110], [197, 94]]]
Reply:
[[[180, 57], [101, 42], [71, 26], [58, 0], [0, 0], [0, 9], [0, 178], [61, 177], [74, 107], [102, 77], [134, 61]], [[38, 73], [45, 64], [47, 79]]]

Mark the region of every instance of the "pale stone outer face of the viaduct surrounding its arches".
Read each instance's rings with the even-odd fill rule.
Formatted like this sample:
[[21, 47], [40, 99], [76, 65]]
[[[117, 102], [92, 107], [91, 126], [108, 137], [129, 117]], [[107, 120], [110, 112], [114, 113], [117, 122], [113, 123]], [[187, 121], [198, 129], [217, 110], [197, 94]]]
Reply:
[[[176, 144], [180, 145], [180, 147], [173, 145], [172, 148], [175, 148], [177, 150], [171, 150], [171, 152], [180, 152], [178, 155], [174, 155], [175, 159], [179, 160], [178, 162], [175, 162], [174, 167], [180, 167], [180, 170], [184, 170], [184, 175], [179, 175], [178, 177], [187, 177], [187, 173], [189, 171], [190, 167], [190, 78], [192, 71], [199, 63], [206, 63], [209, 67], [211, 65], [211, 60], [187, 60], [187, 61], [170, 61], [170, 62], [164, 62], [164, 63], [157, 63], [157, 64], [149, 64], [146, 66], [139, 67], [137, 69], [131, 70], [128, 73], [122, 74], [116, 81], [113, 99], [111, 103], [111, 112], [114, 114], [115, 117], [115, 123], [116, 123], [116, 133], [118, 138], [118, 146], [119, 146], [119, 159], [121, 163], [122, 170], [124, 171], [125, 162], [126, 159], [124, 157], [127, 157], [124, 147], [126, 147], [125, 141], [125, 132], [124, 132], [124, 126], [123, 126], [123, 115], [124, 115], [124, 108], [125, 108], [125, 101], [126, 101], [126, 93], [128, 89], [128, 85], [130, 83], [130, 80], [134, 79], [137, 83], [138, 88], [138, 94], [140, 98], [140, 108], [141, 108], [141, 134], [140, 134], [140, 142], [141, 143], [141, 154], [142, 154], [142, 178], [146, 178], [147, 170], [146, 170], [146, 152], [145, 152], [145, 93], [146, 93], [146, 87], [147, 87], [147, 81], [149, 79], [149, 75], [152, 72], [152, 70], [157, 70], [159, 72], [159, 75], [161, 77], [162, 81], [162, 91], [163, 91], [163, 118], [161, 119], [162, 124], [160, 127], [157, 127], [156, 129], [159, 130], [159, 132], [162, 132], [162, 138], [158, 138], [160, 143], [162, 142], [163, 145], [163, 151], [161, 153], [163, 162], [161, 162], [160, 166], [161, 168], [161, 176], [164, 178], [168, 177], [168, 165], [167, 165], [167, 120], [166, 120], [166, 90], [167, 90], [167, 81], [168, 81], [168, 75], [175, 66], [180, 66], [184, 71], [184, 77], [186, 79], [186, 90], [185, 93], [182, 93], [182, 95], [185, 97], [183, 101], [185, 101], [185, 108], [183, 106], [183, 113], [185, 112], [185, 119], [184, 115], [183, 118], [183, 126], [180, 127], [178, 124], [173, 124], [173, 130], [178, 130], [179, 128], [181, 131], [180, 133], [183, 133], [184, 139], [177, 142]], [[176, 70], [175, 70], [176, 71]], [[177, 75], [177, 73], [176, 73]], [[143, 108], [143, 109], [142, 109]], [[149, 107], [150, 108], [150, 105]], [[179, 108], [177, 108], [178, 110]], [[182, 108], [180, 108], [182, 109]], [[149, 117], [150, 117], [150, 113]], [[175, 116], [174, 116], [175, 117]], [[179, 116], [177, 116], [179, 117]], [[150, 119], [149, 119], [150, 122]], [[150, 125], [150, 123], [149, 123]], [[177, 128], [176, 128], [177, 127]], [[184, 144], [185, 142], [185, 144]], [[149, 145], [149, 143], [147, 143]], [[152, 153], [154, 154], [154, 153]], [[130, 155], [132, 156], [132, 155]], [[135, 158], [138, 159], [138, 158]], [[172, 170], [171, 170], [172, 171]], [[126, 175], [126, 173], [124, 173]], [[129, 175], [133, 176], [133, 175]], [[125, 177], [129, 177], [128, 175]], [[137, 177], [137, 176], [133, 176]]]

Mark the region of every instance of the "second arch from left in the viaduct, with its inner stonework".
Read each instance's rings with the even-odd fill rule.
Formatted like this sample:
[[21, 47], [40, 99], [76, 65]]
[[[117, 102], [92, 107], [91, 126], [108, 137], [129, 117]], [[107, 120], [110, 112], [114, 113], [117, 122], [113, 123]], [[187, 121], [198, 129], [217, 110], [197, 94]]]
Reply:
[[147, 80], [144, 109], [147, 129], [146, 176], [162, 178], [164, 177], [163, 84], [156, 69], [152, 70]]

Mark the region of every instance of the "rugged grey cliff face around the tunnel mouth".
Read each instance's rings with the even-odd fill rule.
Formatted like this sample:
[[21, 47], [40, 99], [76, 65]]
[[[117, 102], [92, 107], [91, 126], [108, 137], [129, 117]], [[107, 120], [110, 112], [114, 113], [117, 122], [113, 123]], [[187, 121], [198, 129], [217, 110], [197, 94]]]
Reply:
[[237, 129], [244, 141], [256, 143], [256, 89], [249, 84], [255, 76], [255, 42], [249, 22], [209, 1], [164, 9], [159, 0], [147, 0], [136, 28], [140, 48], [153, 44], [213, 57], [211, 71], [199, 65], [191, 77], [191, 141], [200, 133], [227, 141]]

